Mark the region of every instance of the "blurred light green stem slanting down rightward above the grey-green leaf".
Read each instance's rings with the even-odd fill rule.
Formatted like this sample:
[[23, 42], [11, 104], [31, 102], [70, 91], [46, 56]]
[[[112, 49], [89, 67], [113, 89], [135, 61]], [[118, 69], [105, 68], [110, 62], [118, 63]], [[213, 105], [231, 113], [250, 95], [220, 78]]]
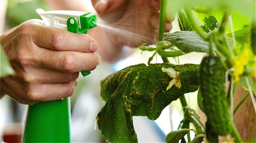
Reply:
[[204, 40], [208, 40], [209, 36], [203, 31], [201, 27], [198, 26], [197, 22], [195, 21], [196, 18], [194, 17], [194, 14], [192, 13], [192, 11], [189, 8], [185, 8], [185, 12], [188, 20], [194, 26], [198, 35], [200, 35]]

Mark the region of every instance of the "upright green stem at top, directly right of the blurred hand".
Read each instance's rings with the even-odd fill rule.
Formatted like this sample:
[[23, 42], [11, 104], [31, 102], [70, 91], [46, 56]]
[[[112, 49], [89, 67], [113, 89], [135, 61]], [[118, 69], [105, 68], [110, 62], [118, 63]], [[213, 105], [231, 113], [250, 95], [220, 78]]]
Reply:
[[158, 42], [163, 40], [164, 26], [165, 26], [165, 10], [167, 0], [161, 0], [160, 3], [160, 18], [159, 18], [159, 30], [158, 30]]

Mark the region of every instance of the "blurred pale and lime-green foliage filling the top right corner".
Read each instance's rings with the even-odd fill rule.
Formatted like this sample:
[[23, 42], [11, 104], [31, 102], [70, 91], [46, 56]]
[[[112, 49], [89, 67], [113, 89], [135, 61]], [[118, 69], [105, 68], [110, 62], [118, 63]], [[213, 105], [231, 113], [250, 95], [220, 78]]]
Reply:
[[[175, 13], [184, 7], [192, 7], [195, 14], [203, 23], [205, 17], [214, 15], [218, 20], [223, 18], [223, 9], [229, 8], [232, 17], [234, 31], [255, 23], [255, 0], [168, 0], [171, 8], [169, 13]], [[196, 6], [196, 7], [195, 7]], [[226, 33], [230, 33], [230, 26], [226, 27]]]

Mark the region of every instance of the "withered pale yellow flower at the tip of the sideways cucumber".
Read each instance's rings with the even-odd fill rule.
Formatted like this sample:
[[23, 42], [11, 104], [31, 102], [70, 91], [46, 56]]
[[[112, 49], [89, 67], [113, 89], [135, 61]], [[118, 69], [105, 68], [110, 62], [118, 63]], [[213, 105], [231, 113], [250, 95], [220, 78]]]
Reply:
[[165, 69], [164, 67], [161, 68], [163, 72], [166, 72], [171, 78], [173, 78], [168, 87], [166, 87], [166, 90], [169, 90], [172, 88], [173, 85], [175, 87], [181, 88], [181, 80], [179, 79], [179, 72], [175, 71], [173, 68], [167, 68]]

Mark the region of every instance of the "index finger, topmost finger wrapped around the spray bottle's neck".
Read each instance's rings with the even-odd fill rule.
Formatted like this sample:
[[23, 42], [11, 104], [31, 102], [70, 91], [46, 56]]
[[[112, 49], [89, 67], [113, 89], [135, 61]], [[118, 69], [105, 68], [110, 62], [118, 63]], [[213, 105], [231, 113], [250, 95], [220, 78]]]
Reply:
[[33, 42], [43, 48], [56, 51], [96, 52], [97, 43], [87, 34], [72, 33], [64, 29], [45, 26], [40, 23], [31, 31]]

